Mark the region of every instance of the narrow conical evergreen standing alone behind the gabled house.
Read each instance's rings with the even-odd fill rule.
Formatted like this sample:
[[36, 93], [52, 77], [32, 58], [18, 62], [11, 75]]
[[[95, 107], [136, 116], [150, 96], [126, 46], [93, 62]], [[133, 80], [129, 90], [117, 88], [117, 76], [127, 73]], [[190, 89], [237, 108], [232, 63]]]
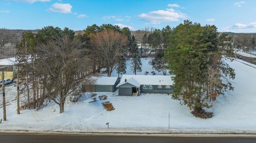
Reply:
[[[134, 36], [132, 36], [134, 37]], [[132, 38], [135, 39], [135, 38]], [[141, 72], [141, 55], [140, 55], [140, 50], [139, 50], [139, 46], [137, 44], [136, 41], [134, 41], [133, 45], [132, 45], [132, 60], [131, 60], [131, 69], [132, 72], [136, 75], [136, 72]]]

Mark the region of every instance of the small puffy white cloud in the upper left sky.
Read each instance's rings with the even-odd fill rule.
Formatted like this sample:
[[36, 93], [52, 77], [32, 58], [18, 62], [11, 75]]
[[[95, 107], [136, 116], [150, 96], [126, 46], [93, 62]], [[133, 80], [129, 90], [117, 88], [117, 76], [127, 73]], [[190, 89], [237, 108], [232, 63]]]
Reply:
[[72, 13], [71, 8], [72, 8], [72, 6], [70, 4], [55, 3], [51, 6], [51, 8], [48, 8], [47, 11], [67, 14], [67, 13]]

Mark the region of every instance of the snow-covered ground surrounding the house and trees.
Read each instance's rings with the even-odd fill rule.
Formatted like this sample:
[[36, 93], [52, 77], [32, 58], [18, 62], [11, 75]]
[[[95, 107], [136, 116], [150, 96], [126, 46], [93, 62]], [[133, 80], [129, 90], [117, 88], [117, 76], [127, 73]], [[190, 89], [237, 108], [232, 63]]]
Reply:
[[[6, 121], [0, 123], [0, 132], [37, 133], [253, 133], [256, 134], [256, 66], [250, 67], [238, 61], [228, 64], [235, 69], [232, 80], [234, 91], [226, 92], [226, 98], [217, 98], [211, 109], [214, 116], [200, 119], [192, 116], [186, 105], [173, 100], [167, 94], [140, 94], [140, 96], [116, 96], [117, 91], [96, 92], [96, 102], [85, 93], [78, 102], [68, 99], [65, 112], [59, 114], [57, 104], [50, 103], [41, 110], [16, 111], [16, 87], [6, 86]], [[142, 59], [143, 70], [149, 74], [152, 67]], [[126, 74], [130, 72], [128, 66]], [[162, 75], [161, 72], [156, 72]], [[113, 72], [112, 76], [117, 76]], [[150, 80], [150, 79], [149, 79]], [[106, 100], [98, 96], [106, 95]], [[102, 102], [110, 102], [115, 110], [107, 111]], [[0, 98], [2, 102], [2, 96]], [[2, 119], [2, 104], [0, 119]], [[169, 122], [170, 114], [170, 122]], [[109, 128], [106, 123], [109, 122]], [[169, 129], [170, 123], [170, 129]], [[22, 130], [22, 131], [20, 131]]]

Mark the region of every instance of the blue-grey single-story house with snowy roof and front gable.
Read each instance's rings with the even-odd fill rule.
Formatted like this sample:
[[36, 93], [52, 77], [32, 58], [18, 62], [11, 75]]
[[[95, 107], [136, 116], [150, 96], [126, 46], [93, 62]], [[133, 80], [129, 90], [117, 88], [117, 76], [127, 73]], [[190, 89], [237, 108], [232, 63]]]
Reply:
[[140, 93], [166, 93], [174, 90], [172, 76], [164, 75], [123, 75], [118, 87], [118, 94], [124, 96]]

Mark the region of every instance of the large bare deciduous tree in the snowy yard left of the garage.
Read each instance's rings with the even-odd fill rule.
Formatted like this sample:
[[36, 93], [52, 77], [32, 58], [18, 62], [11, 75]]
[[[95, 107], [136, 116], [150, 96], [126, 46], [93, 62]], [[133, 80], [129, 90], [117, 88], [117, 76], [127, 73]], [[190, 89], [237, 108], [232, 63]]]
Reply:
[[[55, 40], [50, 40], [47, 44], [38, 45], [38, 62], [42, 65], [42, 69], [46, 72], [47, 80], [44, 86], [50, 94], [50, 98], [60, 106], [60, 113], [64, 112], [64, 103], [66, 97], [77, 86], [83, 82], [86, 74], [80, 74], [81, 67], [87, 62], [86, 58], [81, 56], [81, 43], [77, 39], [63, 35]], [[78, 78], [79, 77], [79, 78]]]

